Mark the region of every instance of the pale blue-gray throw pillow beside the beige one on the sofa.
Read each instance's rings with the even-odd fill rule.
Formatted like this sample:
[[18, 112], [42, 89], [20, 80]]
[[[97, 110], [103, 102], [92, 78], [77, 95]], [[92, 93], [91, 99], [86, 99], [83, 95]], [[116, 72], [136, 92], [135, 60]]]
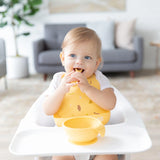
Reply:
[[114, 49], [114, 21], [89, 22], [86, 25], [93, 29], [102, 41], [102, 50]]

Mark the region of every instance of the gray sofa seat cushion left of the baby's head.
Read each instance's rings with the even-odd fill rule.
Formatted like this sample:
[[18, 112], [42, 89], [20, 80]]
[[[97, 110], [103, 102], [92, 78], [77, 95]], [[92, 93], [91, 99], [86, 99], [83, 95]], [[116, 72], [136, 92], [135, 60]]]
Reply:
[[43, 51], [39, 54], [38, 63], [44, 65], [61, 65], [60, 50]]

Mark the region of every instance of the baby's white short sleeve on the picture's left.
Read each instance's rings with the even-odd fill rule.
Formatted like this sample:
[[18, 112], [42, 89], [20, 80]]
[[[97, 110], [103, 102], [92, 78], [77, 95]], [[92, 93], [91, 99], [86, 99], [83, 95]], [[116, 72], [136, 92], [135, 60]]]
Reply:
[[45, 96], [49, 96], [58, 88], [58, 86], [61, 82], [61, 77], [63, 74], [64, 74], [64, 72], [59, 72], [59, 73], [54, 74], [53, 79], [52, 79], [48, 89], [45, 92]]

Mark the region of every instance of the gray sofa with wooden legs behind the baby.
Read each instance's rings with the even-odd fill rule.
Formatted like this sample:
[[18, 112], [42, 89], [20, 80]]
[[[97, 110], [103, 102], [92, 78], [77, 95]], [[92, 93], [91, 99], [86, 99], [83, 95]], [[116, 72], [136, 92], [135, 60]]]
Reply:
[[[44, 26], [44, 38], [33, 42], [34, 65], [38, 73], [54, 74], [63, 71], [59, 53], [61, 43], [65, 34], [72, 28], [85, 27], [86, 24], [46, 24]], [[103, 67], [102, 72], [122, 72], [129, 71], [134, 77], [134, 71], [142, 68], [143, 60], [143, 39], [135, 36], [133, 39], [134, 50], [115, 48], [112, 50], [102, 50]]]

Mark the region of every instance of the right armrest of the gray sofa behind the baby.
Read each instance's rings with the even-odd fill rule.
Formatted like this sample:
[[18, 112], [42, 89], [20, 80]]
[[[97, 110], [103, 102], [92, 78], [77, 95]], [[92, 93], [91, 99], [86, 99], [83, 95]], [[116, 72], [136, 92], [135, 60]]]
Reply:
[[141, 69], [142, 68], [142, 63], [143, 63], [143, 38], [140, 36], [135, 36], [133, 39], [133, 45], [134, 45], [134, 50], [137, 55], [137, 60], [136, 60], [136, 69]]

